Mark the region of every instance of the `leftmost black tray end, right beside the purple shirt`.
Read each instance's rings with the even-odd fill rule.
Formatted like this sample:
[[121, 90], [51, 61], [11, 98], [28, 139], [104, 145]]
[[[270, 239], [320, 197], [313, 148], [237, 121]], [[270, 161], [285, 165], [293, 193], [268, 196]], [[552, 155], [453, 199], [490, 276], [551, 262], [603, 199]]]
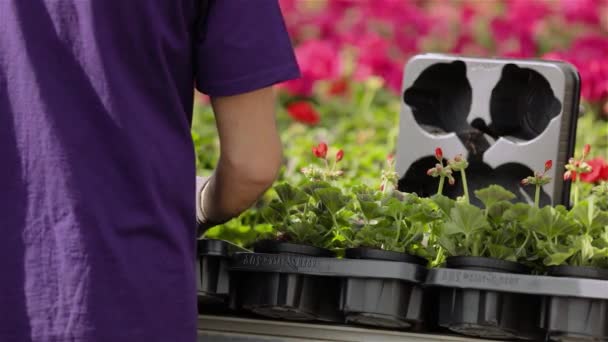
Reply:
[[198, 240], [196, 279], [199, 312], [224, 312], [228, 309], [230, 257], [243, 251], [246, 250], [222, 240]]

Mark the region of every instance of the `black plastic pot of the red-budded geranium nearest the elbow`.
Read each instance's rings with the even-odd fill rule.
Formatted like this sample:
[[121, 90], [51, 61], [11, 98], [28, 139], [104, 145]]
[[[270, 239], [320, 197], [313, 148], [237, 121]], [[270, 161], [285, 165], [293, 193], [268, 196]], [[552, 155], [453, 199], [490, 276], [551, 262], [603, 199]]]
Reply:
[[[263, 240], [256, 253], [293, 254], [306, 257], [334, 257], [327, 249], [294, 243]], [[343, 322], [338, 312], [340, 280], [295, 273], [236, 272], [231, 290], [233, 307], [261, 316], [290, 321]]]

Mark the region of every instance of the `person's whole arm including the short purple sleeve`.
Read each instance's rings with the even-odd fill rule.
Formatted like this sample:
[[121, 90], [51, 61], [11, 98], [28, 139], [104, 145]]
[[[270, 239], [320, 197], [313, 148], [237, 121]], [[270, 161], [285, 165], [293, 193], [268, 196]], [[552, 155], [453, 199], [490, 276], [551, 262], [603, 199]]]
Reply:
[[[197, 194], [199, 233], [249, 208], [275, 180], [281, 144], [271, 86], [299, 77], [277, 0], [207, 0], [195, 40], [195, 83], [211, 97], [217, 169]], [[205, 221], [200, 224], [201, 221]]]

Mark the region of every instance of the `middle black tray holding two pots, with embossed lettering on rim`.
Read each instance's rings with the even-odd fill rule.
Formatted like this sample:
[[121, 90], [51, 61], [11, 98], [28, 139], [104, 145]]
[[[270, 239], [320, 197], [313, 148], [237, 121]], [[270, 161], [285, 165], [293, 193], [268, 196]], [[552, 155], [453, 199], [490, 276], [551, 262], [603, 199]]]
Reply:
[[286, 320], [407, 328], [422, 319], [426, 268], [385, 260], [238, 253], [232, 304]]

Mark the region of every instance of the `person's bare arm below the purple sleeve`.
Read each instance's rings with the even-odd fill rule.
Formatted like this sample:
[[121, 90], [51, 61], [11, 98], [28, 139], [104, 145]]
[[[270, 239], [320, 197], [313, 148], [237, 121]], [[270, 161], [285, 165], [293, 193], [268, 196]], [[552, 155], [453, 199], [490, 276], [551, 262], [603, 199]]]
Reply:
[[224, 222], [249, 208], [274, 182], [281, 160], [271, 87], [211, 100], [220, 139], [220, 159], [201, 192], [210, 222]]

